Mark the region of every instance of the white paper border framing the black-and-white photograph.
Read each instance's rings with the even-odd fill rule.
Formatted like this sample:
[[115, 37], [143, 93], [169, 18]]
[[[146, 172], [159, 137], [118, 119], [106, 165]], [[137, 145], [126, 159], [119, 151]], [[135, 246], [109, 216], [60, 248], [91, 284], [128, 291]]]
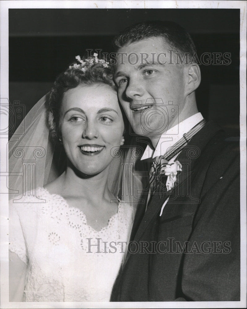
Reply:
[[[92, 9], [240, 9], [240, 152], [241, 152], [241, 300], [240, 302], [129, 302], [129, 303], [13, 303], [8, 301], [8, 195], [1, 194], [0, 209], [0, 308], [240, 308], [246, 307], [246, 1], [1, 1], [1, 75], [0, 97], [9, 98], [8, 93], [8, 9], [10, 8], [92, 8]], [[8, 127], [8, 117], [1, 113], [1, 128]], [[6, 192], [8, 172], [8, 138], [0, 138], [1, 178], [0, 190]], [[2, 177], [3, 175], [3, 177]]]

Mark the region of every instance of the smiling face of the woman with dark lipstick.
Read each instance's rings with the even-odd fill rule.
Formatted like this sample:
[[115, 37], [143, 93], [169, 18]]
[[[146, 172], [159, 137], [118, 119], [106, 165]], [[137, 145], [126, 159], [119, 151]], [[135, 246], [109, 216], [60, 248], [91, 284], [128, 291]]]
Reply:
[[95, 175], [112, 161], [111, 148], [123, 144], [124, 121], [116, 92], [99, 83], [65, 92], [60, 113], [68, 159], [80, 172]]

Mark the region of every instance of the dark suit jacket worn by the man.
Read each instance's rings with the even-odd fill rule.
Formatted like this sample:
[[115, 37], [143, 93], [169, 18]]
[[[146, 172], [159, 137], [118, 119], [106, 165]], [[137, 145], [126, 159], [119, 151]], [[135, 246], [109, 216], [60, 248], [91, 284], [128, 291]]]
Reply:
[[111, 301], [240, 300], [239, 142], [208, 122], [177, 159], [183, 170], [162, 216], [168, 195], [137, 210], [129, 249], [138, 251]]

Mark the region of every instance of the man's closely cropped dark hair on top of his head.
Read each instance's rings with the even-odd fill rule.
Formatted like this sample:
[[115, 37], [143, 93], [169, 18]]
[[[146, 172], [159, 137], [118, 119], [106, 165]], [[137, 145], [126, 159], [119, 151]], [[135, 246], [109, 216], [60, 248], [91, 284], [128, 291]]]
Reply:
[[126, 28], [114, 38], [114, 51], [117, 52], [121, 47], [150, 37], [163, 38], [175, 52], [188, 54], [189, 60], [196, 54], [196, 47], [189, 33], [171, 21], [147, 21]]

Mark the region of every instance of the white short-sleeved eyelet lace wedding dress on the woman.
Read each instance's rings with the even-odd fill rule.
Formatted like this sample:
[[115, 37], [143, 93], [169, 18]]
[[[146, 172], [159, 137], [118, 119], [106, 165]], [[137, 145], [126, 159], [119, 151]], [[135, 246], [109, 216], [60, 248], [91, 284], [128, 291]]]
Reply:
[[[10, 251], [27, 264], [24, 301], [109, 301], [124, 259], [132, 207], [118, 212], [100, 231], [63, 197], [38, 188], [45, 203], [10, 201]], [[37, 200], [35, 200], [37, 201]]]

